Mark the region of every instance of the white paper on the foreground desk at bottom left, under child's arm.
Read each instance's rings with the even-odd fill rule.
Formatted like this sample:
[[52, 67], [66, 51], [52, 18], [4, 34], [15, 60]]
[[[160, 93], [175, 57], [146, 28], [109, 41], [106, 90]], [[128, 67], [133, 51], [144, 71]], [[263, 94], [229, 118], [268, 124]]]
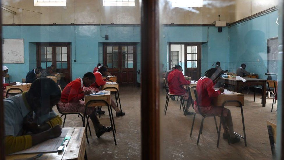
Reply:
[[44, 152], [57, 152], [57, 149], [59, 146], [61, 146], [61, 143], [63, 142], [65, 136], [67, 135], [68, 131], [70, 129], [62, 128], [62, 133], [59, 137], [49, 139], [47, 141], [44, 141], [38, 145], [35, 145], [29, 149], [22, 150], [19, 152], [12, 153], [13, 154], [25, 154], [25, 153], [44, 153]]

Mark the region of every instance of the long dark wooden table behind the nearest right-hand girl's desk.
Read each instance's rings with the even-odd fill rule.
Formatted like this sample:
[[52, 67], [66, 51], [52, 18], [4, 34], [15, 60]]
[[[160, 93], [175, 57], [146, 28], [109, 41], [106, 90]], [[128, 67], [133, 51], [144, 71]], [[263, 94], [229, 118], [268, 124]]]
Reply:
[[236, 78], [220, 78], [218, 82], [225, 83], [228, 85], [235, 86], [234, 91], [239, 92], [240, 87], [242, 86], [262, 86], [262, 107], [265, 107], [266, 103], [266, 80], [257, 79], [257, 78], [248, 78], [242, 77], [246, 80], [243, 82], [242, 80], [236, 80]]

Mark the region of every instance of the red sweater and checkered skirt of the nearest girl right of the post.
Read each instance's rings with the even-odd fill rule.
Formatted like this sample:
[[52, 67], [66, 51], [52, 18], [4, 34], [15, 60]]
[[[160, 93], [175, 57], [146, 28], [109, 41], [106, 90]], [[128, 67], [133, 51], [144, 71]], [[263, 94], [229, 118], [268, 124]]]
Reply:
[[[221, 92], [215, 91], [213, 81], [204, 76], [200, 78], [196, 85], [196, 92], [197, 92], [197, 99], [198, 99], [198, 106], [200, 107], [200, 111], [203, 114], [219, 114], [221, 115], [221, 107], [212, 106], [212, 99], [213, 97], [217, 97], [221, 94]], [[193, 106], [195, 112], [199, 113], [197, 103], [194, 102]], [[223, 116], [226, 117], [228, 114], [228, 109], [224, 108]]]

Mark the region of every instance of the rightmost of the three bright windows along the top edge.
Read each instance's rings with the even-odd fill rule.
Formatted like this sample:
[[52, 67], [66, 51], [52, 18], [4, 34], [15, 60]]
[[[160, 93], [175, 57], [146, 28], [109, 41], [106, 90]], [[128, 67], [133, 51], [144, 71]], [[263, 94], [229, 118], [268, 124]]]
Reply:
[[203, 7], [203, 0], [169, 0], [172, 7]]

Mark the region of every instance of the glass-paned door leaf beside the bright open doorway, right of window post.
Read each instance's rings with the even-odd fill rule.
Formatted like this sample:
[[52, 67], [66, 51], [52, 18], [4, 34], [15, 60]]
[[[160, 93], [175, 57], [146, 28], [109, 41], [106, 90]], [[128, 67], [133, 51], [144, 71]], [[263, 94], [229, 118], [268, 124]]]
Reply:
[[184, 50], [185, 76], [198, 80], [201, 77], [201, 44], [186, 44]]

